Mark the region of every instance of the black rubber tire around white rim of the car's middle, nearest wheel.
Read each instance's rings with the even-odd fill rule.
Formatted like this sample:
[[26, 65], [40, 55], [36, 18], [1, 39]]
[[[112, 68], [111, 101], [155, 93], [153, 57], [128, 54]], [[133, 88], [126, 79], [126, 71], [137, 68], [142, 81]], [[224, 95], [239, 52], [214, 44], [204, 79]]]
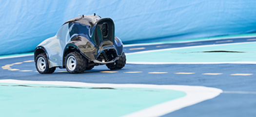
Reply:
[[[68, 67], [67, 67], [67, 59], [70, 56], [73, 56], [77, 61], [76, 68], [73, 71], [69, 70]], [[81, 74], [81, 73], [83, 73], [84, 70], [86, 69], [86, 64], [87, 64], [87, 59], [85, 57], [83, 57], [79, 52], [71, 52], [67, 55], [67, 57], [65, 59], [66, 69], [70, 74]]]

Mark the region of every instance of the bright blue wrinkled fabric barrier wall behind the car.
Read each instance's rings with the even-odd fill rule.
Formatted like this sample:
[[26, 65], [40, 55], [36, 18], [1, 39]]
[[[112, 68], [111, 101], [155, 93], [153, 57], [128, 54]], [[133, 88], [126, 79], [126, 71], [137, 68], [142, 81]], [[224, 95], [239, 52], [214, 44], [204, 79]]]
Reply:
[[256, 0], [0, 0], [0, 55], [33, 51], [67, 20], [96, 13], [124, 43], [256, 31]]

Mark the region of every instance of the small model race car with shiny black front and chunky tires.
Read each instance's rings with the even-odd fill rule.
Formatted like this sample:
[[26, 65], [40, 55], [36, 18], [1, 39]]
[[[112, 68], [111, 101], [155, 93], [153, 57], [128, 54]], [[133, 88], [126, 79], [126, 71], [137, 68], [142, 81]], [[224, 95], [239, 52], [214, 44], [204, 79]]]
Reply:
[[126, 64], [123, 43], [115, 36], [114, 21], [96, 14], [66, 21], [54, 37], [36, 47], [34, 59], [40, 74], [51, 74], [56, 67], [79, 74], [97, 65], [115, 70]]

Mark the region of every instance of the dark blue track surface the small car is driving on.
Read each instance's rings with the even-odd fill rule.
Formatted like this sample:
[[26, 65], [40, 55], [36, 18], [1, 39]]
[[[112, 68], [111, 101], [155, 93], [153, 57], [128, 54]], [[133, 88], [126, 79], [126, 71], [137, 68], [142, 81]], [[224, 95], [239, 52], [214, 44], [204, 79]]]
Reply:
[[[127, 46], [125, 53], [146, 50], [256, 41], [255, 38], [197, 41], [189, 43], [166, 43], [144, 46]], [[117, 84], [167, 84], [198, 85], [215, 87], [224, 92], [216, 98], [182, 108], [163, 117], [255, 117], [256, 116], [256, 65], [255, 64], [126, 64], [121, 70], [109, 71], [106, 66], [96, 66], [83, 74], [68, 74], [65, 69], [57, 69], [54, 74], [40, 75], [36, 71], [33, 56], [0, 59], [0, 66], [13, 64], [13, 69], [0, 70], [0, 79], [39, 80], [39, 81], [76, 81], [88, 83]], [[23, 63], [19, 63], [23, 62]], [[25, 71], [24, 71], [25, 70]], [[127, 73], [138, 72], [138, 73]], [[159, 72], [162, 74], [150, 74]], [[191, 74], [177, 74], [191, 73]], [[219, 75], [205, 75], [220, 73]], [[234, 76], [234, 74], [246, 76]]]

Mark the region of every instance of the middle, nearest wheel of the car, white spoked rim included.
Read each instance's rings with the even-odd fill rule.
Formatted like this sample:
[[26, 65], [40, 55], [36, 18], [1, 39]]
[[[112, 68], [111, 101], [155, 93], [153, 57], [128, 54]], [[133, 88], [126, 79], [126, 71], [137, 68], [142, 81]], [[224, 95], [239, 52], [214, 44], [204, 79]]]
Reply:
[[78, 52], [71, 52], [66, 57], [66, 69], [71, 74], [81, 74], [86, 69], [87, 59]]

